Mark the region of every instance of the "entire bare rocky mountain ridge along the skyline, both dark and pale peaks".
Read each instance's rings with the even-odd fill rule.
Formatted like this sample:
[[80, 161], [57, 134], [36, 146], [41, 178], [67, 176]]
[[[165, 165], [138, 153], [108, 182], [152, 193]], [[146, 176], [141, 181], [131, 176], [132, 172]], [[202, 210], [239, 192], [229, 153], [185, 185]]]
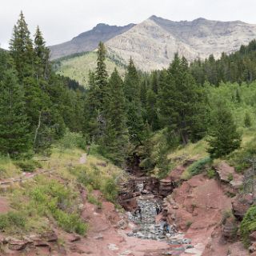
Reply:
[[95, 50], [102, 41], [108, 52], [123, 59], [125, 65], [132, 57], [140, 70], [149, 71], [166, 68], [177, 52], [189, 62], [207, 58], [210, 54], [220, 58], [222, 52], [230, 54], [254, 38], [256, 25], [242, 21], [196, 18], [176, 22], [152, 15], [137, 25], [99, 23], [93, 30], [79, 34], [70, 42], [50, 46], [50, 50], [54, 59]]

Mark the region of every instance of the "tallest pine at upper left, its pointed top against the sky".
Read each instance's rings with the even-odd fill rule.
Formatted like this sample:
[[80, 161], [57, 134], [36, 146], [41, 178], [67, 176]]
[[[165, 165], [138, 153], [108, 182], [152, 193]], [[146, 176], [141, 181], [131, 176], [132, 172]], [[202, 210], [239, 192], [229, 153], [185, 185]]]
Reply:
[[17, 24], [14, 26], [13, 37], [10, 40], [10, 55], [14, 59], [20, 82], [22, 82], [23, 78], [34, 74], [33, 42], [22, 12], [19, 15]]

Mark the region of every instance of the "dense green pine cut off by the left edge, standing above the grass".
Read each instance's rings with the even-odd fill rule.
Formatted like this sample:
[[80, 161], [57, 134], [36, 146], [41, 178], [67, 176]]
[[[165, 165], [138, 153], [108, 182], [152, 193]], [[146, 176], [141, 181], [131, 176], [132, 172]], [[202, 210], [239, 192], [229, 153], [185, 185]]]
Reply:
[[17, 158], [31, 149], [22, 86], [14, 70], [6, 70], [0, 82], [0, 152]]

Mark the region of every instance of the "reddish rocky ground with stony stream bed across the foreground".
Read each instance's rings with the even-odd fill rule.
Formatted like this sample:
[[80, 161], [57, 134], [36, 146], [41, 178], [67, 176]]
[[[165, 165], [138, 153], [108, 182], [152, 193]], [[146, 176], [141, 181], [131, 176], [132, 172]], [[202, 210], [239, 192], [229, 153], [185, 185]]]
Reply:
[[[80, 163], [86, 162], [83, 155]], [[81, 190], [82, 218], [89, 223], [86, 237], [68, 234], [55, 226], [46, 234], [28, 234], [22, 238], [1, 234], [0, 255], [90, 255], [90, 256], [246, 256], [238, 238], [233, 237], [246, 210], [253, 203], [250, 195], [231, 198], [242, 181], [239, 175], [229, 181], [232, 167], [221, 163], [216, 178], [205, 174], [182, 181], [177, 170], [162, 181], [155, 178], [131, 178], [121, 193], [126, 211], [115, 209], [102, 194], [94, 190], [102, 206], [87, 201], [86, 191]], [[227, 174], [228, 173], [228, 174]], [[177, 183], [181, 184], [177, 186]], [[130, 188], [130, 191], [129, 191]], [[162, 194], [162, 196], [161, 196]], [[166, 198], [163, 194], [169, 194]], [[141, 214], [133, 214], [140, 207]], [[157, 215], [156, 207], [162, 212]], [[10, 209], [7, 198], [0, 198], [0, 213]], [[226, 212], [233, 211], [233, 217]], [[170, 234], [164, 234], [163, 225], [170, 224]], [[251, 251], [256, 251], [256, 234]], [[253, 255], [253, 254], [252, 254]]]

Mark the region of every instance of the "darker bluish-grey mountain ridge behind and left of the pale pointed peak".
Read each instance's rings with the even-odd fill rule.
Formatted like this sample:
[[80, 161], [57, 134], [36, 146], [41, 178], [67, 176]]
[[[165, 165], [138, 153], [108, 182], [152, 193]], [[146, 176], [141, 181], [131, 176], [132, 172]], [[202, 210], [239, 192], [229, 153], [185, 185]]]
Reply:
[[110, 26], [98, 24], [92, 30], [79, 34], [69, 42], [63, 42], [55, 46], [49, 46], [51, 59], [62, 58], [70, 54], [78, 54], [86, 51], [92, 51], [98, 46], [98, 42], [106, 42], [119, 34], [130, 30], [135, 24], [126, 26]]

